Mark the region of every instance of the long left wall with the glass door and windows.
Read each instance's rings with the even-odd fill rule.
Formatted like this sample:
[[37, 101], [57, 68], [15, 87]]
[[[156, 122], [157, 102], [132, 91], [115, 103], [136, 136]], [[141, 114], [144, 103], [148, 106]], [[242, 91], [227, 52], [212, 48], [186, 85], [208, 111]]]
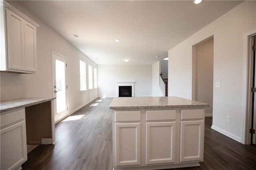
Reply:
[[[1, 73], [1, 100], [19, 97], [52, 97], [53, 89], [48, 88], [48, 83], [52, 83], [52, 50], [68, 57], [69, 113], [97, 97], [97, 89], [80, 92], [79, 60], [81, 59], [86, 64], [97, 68], [96, 63], [67, 42], [26, 7], [22, 6], [20, 2], [8, 1], [8, 3], [40, 25], [36, 30], [37, 73], [22, 75]], [[86, 67], [88, 69], [88, 65]]]

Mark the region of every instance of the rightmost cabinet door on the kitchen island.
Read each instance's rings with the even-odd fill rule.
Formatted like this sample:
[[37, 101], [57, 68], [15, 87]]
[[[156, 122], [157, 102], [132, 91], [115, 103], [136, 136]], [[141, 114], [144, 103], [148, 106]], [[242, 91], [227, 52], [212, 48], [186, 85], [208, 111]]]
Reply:
[[203, 160], [204, 121], [180, 122], [180, 162]]

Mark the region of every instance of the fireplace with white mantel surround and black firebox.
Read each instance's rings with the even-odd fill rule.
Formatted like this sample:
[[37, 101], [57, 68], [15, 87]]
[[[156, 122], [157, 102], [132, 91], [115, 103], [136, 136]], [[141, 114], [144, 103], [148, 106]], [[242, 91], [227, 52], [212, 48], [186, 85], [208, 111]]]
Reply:
[[[134, 83], [135, 82], [116, 82], [116, 97], [134, 97]], [[121, 89], [124, 88], [122, 93], [124, 93], [125, 96], [122, 96], [122, 93], [120, 94], [119, 87], [121, 87]], [[129, 95], [127, 93], [129, 93]]]

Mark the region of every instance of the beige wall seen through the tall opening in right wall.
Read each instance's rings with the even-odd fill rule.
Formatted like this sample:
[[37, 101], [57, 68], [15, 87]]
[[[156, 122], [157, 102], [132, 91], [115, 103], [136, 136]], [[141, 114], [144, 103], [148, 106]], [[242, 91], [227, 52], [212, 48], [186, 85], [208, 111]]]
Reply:
[[212, 116], [213, 97], [213, 38], [195, 46], [195, 100], [208, 103], [205, 115]]

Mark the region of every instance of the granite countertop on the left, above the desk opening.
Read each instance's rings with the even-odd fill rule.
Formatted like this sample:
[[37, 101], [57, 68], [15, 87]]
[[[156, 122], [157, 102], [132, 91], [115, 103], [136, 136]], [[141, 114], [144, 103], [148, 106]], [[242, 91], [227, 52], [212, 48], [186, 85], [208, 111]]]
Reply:
[[0, 101], [0, 105], [1, 105], [0, 113], [11, 111], [11, 110], [22, 108], [22, 107], [37, 105], [40, 103], [51, 101], [53, 99], [56, 99], [56, 97], [50, 97], [50, 98], [24, 97], [19, 99]]

